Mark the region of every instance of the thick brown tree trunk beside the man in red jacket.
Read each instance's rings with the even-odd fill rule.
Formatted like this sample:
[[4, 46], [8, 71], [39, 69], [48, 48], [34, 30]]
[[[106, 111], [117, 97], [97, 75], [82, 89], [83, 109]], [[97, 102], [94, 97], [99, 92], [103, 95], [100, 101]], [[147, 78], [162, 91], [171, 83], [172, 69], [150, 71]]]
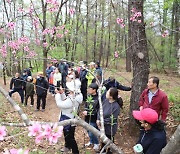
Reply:
[[147, 49], [147, 39], [145, 33], [145, 24], [143, 16], [143, 0], [132, 1], [129, 0], [130, 8], [136, 8], [137, 12], [141, 12], [141, 17], [137, 20], [141, 20], [141, 23], [137, 21], [130, 24], [130, 29], [133, 29], [131, 33], [132, 37], [132, 65], [133, 65], [133, 79], [132, 79], [132, 93], [130, 99], [130, 126], [135, 125], [135, 120], [132, 117], [132, 111], [138, 109], [138, 101], [142, 91], [147, 86], [149, 76], [149, 57]]

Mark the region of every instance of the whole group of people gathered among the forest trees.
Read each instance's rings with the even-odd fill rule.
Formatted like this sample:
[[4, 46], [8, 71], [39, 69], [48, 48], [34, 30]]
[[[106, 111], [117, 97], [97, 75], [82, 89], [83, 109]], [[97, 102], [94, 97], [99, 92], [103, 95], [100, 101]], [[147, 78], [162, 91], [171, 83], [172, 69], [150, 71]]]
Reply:
[[[60, 108], [59, 121], [75, 118], [79, 114], [80, 104], [84, 102], [82, 115], [85, 121], [100, 129], [98, 84], [102, 81], [102, 68], [98, 62], [91, 62], [87, 65], [86, 61], [80, 61], [78, 67], [74, 67], [73, 64], [61, 61], [56, 65], [47, 64], [46, 77], [43, 76], [42, 72], [38, 72], [35, 79], [32, 76], [27, 76], [24, 80], [19, 73], [16, 73], [10, 83], [9, 95], [18, 92], [23, 103], [25, 91], [25, 105], [27, 105], [28, 98], [31, 97], [31, 105], [33, 106], [33, 96], [36, 89], [36, 110], [40, 110], [40, 101], [42, 100], [42, 111], [44, 111], [49, 89], [49, 92], [53, 96], [55, 95], [56, 104]], [[130, 91], [131, 87], [121, 85], [112, 76], [103, 81], [103, 85], [105, 91], [102, 93], [101, 101], [105, 134], [114, 142], [114, 136], [118, 128], [118, 116], [123, 106], [123, 100], [118, 92], [119, 90]], [[142, 145], [144, 154], [159, 154], [166, 145], [164, 125], [169, 106], [166, 94], [159, 89], [159, 79], [157, 77], [149, 79], [147, 89], [140, 96], [139, 106], [139, 111], [133, 111], [132, 113], [134, 118], [141, 123], [141, 135], [138, 144]], [[75, 125], [64, 127], [65, 145], [61, 149], [62, 152], [72, 150], [74, 154], [79, 153], [74, 136], [75, 127]], [[96, 152], [101, 151], [104, 144], [102, 143], [100, 146], [99, 139], [90, 131], [88, 131], [88, 136], [89, 142], [85, 146], [93, 146]], [[104, 152], [112, 153], [109, 148], [104, 149]]]

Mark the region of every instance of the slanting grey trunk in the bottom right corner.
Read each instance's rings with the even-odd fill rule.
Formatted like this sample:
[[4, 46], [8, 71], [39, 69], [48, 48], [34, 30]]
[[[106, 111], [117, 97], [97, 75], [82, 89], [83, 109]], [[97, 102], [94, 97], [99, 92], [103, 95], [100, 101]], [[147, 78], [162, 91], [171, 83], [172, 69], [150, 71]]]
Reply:
[[180, 153], [180, 125], [177, 127], [174, 134], [171, 136], [168, 144], [163, 148], [161, 154], [178, 154]]

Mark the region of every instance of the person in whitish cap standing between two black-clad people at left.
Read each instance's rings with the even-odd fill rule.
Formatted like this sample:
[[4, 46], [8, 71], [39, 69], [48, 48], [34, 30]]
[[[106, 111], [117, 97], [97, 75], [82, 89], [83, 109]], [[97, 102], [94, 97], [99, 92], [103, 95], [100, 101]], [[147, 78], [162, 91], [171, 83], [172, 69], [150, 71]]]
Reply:
[[31, 76], [27, 77], [27, 83], [26, 83], [26, 95], [25, 95], [25, 105], [27, 105], [28, 98], [31, 98], [31, 105], [34, 105], [34, 84], [33, 84], [33, 78]]

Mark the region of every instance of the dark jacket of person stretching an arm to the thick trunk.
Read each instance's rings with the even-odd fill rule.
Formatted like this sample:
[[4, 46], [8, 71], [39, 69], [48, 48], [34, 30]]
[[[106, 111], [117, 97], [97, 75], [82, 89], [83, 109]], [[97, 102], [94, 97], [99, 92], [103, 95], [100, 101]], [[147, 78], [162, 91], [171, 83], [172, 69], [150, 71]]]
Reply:
[[108, 91], [111, 87], [117, 88], [119, 90], [123, 90], [123, 91], [130, 91], [131, 87], [126, 87], [121, 85], [118, 81], [116, 80], [105, 80], [104, 81], [104, 86], [106, 87], [106, 90]]

